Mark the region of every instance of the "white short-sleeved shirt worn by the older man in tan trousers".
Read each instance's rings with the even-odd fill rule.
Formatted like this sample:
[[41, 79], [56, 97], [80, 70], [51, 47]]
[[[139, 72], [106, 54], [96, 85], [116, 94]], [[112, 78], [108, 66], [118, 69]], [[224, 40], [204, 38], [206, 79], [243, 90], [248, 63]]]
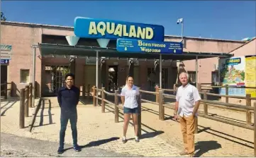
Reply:
[[179, 116], [190, 116], [193, 113], [195, 103], [199, 100], [201, 97], [194, 85], [188, 83], [185, 87], [180, 86], [176, 95], [176, 101], [179, 102]]

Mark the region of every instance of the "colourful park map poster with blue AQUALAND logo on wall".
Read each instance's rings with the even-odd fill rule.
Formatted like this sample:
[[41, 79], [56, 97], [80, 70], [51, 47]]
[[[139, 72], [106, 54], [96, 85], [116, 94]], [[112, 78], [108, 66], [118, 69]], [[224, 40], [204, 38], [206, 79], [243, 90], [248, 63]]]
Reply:
[[[231, 86], [228, 88], [228, 95], [245, 96], [245, 56], [233, 57], [219, 60], [219, 74], [221, 85]], [[226, 95], [226, 88], [219, 91], [220, 95]]]

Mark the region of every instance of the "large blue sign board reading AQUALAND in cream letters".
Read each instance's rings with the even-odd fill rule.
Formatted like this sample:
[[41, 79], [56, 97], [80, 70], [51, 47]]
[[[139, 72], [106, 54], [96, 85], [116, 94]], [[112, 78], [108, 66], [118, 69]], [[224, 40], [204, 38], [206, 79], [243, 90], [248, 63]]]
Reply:
[[74, 35], [96, 39], [128, 38], [164, 41], [165, 28], [161, 25], [77, 17], [74, 19]]

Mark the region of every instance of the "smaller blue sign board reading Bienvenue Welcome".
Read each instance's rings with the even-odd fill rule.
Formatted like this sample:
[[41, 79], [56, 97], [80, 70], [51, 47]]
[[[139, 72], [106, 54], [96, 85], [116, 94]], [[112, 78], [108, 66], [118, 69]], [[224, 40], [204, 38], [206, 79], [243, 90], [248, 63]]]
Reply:
[[182, 54], [182, 42], [157, 42], [140, 39], [118, 39], [116, 49], [119, 52]]

